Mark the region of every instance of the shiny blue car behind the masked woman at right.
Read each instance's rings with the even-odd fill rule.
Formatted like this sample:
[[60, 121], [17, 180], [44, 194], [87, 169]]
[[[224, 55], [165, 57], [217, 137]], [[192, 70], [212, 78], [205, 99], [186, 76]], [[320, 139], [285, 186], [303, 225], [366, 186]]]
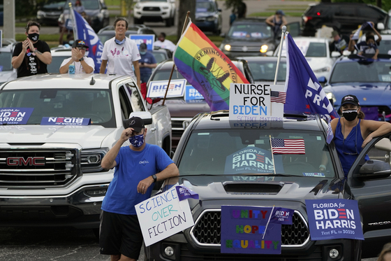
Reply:
[[335, 62], [323, 90], [338, 111], [341, 99], [353, 94], [369, 120], [391, 120], [391, 60], [390, 55], [379, 59], [363, 59], [357, 55], [341, 57]]

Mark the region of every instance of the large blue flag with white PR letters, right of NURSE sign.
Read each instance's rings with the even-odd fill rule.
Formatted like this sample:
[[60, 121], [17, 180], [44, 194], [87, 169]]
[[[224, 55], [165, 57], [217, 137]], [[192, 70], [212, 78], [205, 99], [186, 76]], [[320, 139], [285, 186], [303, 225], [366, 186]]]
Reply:
[[286, 33], [285, 113], [318, 113], [327, 120], [339, 118], [327, 99], [307, 59], [292, 36]]

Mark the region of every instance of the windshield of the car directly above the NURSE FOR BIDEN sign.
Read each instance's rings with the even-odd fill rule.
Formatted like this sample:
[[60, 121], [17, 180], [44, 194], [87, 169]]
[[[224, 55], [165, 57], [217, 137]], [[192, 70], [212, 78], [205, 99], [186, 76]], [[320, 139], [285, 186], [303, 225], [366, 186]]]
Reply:
[[[274, 76], [276, 74], [276, 65], [277, 61], [247, 61], [249, 64], [251, 74], [253, 75], [254, 80], [267, 80], [274, 81]], [[279, 75], [277, 80], [285, 81], [286, 80], [286, 62], [282, 62], [279, 65]]]

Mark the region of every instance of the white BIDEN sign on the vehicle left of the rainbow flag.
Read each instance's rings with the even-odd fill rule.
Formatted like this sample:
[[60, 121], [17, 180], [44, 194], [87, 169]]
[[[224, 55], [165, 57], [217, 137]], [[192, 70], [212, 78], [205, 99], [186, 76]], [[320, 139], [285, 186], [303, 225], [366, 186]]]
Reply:
[[[168, 80], [156, 80], [149, 83], [147, 97], [158, 98], [164, 97], [167, 89]], [[186, 87], [186, 79], [171, 80], [168, 88], [167, 97], [183, 97]]]

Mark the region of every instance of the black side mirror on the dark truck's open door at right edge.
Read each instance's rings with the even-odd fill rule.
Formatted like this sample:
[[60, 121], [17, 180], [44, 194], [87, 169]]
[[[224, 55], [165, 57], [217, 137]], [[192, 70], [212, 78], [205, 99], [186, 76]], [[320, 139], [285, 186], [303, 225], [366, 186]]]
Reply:
[[391, 167], [388, 162], [382, 162], [381, 160], [367, 160], [358, 174], [353, 174], [353, 178], [366, 181], [376, 178], [388, 178], [391, 174]]

